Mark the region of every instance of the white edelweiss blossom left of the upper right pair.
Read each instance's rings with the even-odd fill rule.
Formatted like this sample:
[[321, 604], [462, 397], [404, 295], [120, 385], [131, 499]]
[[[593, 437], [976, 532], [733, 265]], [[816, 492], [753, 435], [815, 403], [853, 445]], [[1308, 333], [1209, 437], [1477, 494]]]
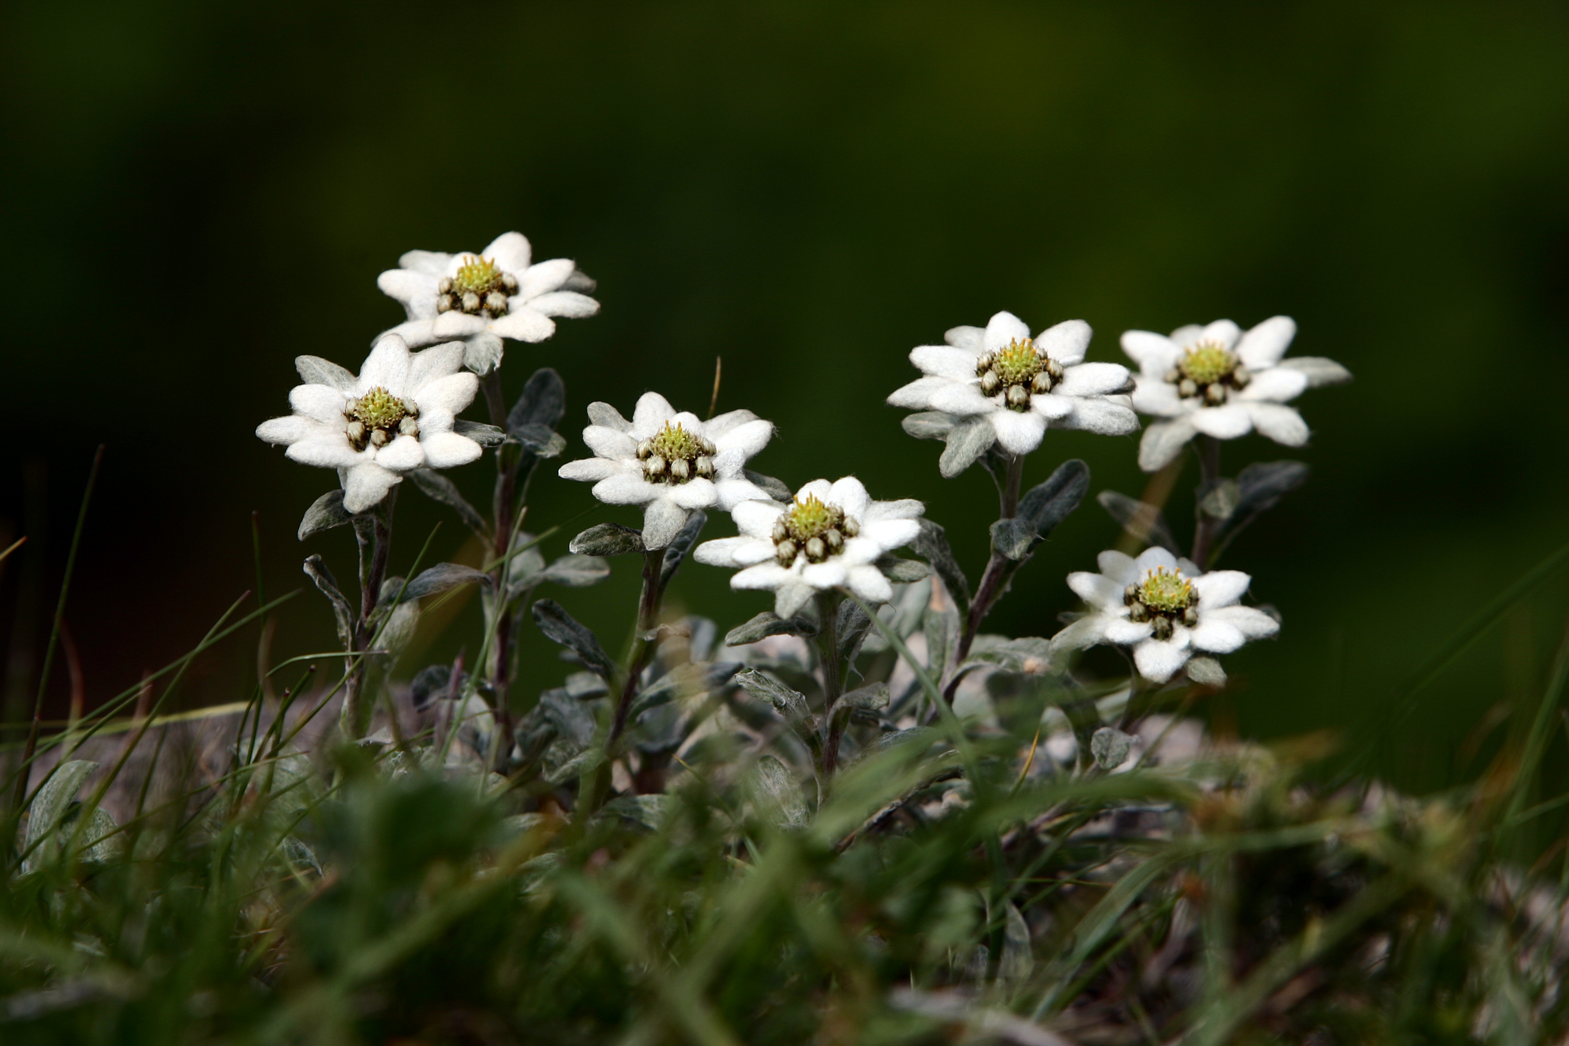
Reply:
[[998, 312], [985, 328], [956, 326], [948, 345], [921, 345], [910, 362], [926, 372], [888, 397], [894, 406], [985, 416], [996, 442], [1012, 455], [1040, 445], [1047, 428], [1084, 428], [1122, 436], [1139, 419], [1119, 395], [1128, 386], [1122, 364], [1086, 364], [1090, 329], [1068, 320], [1029, 336], [1012, 312]]

